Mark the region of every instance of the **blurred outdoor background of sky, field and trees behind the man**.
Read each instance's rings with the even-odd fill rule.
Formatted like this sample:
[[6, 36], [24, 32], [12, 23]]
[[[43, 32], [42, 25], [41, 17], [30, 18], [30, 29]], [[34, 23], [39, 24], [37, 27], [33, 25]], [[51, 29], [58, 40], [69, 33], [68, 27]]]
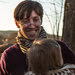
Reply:
[[[0, 53], [16, 43], [13, 12], [23, 0], [0, 0]], [[42, 26], [51, 39], [64, 41], [75, 53], [75, 0], [34, 0], [44, 9]]]

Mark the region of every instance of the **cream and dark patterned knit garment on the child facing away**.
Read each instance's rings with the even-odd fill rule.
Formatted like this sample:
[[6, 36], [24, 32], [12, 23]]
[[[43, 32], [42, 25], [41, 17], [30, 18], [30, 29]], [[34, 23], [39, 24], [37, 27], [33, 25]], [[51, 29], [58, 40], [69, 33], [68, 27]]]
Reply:
[[[74, 70], [75, 70], [75, 65], [68, 64], [63, 66], [60, 69], [49, 71], [47, 75], [75, 75]], [[36, 75], [36, 74], [34, 74], [32, 71], [28, 71], [24, 75]]]

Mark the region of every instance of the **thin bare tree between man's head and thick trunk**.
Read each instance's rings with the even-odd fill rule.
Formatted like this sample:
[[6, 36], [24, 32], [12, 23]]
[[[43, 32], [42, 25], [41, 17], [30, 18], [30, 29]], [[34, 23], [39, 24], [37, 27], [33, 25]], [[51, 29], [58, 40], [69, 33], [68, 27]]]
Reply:
[[[49, 22], [51, 29], [50, 31], [52, 32], [53, 38], [59, 40], [59, 32], [61, 25], [60, 23], [63, 17], [64, 0], [52, 0], [52, 2], [50, 0], [39, 0], [39, 2], [44, 6], [44, 13], [46, 18], [48, 19], [47, 21]], [[53, 14], [49, 13], [49, 11], [51, 11]], [[52, 19], [53, 17], [54, 20]]]

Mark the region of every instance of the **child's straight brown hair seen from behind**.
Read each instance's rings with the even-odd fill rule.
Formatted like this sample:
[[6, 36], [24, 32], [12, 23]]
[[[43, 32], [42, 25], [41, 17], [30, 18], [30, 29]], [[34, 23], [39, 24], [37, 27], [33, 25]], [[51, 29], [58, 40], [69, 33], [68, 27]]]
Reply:
[[45, 75], [63, 64], [61, 48], [51, 39], [35, 40], [27, 55], [30, 68], [36, 75]]

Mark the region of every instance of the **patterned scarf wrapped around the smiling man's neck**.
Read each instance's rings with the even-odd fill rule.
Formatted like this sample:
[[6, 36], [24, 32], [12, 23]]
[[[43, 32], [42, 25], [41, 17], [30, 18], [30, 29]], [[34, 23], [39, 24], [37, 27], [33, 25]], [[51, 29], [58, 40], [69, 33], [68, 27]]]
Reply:
[[[38, 38], [47, 38], [46, 32], [41, 26], [41, 32]], [[21, 51], [25, 54], [27, 50], [31, 47], [33, 40], [29, 40], [23, 37], [21, 32], [18, 32], [18, 35], [16, 37], [17, 43], [19, 44]]]

